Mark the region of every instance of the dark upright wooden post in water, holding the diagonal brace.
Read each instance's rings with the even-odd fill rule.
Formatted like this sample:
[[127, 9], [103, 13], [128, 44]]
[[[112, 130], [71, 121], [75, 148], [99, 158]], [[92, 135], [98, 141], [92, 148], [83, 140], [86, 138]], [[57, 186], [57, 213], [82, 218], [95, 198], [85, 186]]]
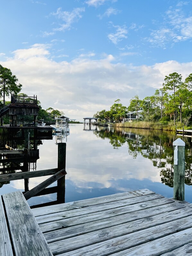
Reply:
[[[58, 143], [58, 171], [65, 169], [66, 143]], [[57, 201], [65, 203], [65, 176], [57, 180]]]

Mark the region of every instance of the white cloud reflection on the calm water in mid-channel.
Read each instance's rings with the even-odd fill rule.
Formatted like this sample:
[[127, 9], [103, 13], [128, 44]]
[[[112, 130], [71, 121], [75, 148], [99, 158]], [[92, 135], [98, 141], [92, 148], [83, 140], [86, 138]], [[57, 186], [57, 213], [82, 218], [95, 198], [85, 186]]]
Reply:
[[[37, 170], [57, 168], [57, 147], [55, 137], [43, 141], [43, 145], [38, 147]], [[153, 166], [153, 162], [140, 153], [136, 159], [129, 155], [127, 142], [114, 149], [108, 138], [101, 139], [93, 131], [83, 131], [83, 124], [70, 125], [65, 179], [71, 181], [76, 190], [114, 188], [127, 191], [132, 179], [161, 182], [160, 171], [161, 168]], [[29, 189], [48, 177], [31, 178]], [[13, 181], [12, 187], [24, 190], [24, 181]]]

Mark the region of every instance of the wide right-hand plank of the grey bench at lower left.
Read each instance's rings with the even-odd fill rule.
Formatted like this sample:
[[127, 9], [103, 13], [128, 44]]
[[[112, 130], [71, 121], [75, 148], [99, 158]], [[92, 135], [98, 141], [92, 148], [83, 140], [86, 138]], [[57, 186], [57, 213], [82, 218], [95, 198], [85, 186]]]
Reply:
[[21, 191], [2, 196], [16, 256], [52, 255]]

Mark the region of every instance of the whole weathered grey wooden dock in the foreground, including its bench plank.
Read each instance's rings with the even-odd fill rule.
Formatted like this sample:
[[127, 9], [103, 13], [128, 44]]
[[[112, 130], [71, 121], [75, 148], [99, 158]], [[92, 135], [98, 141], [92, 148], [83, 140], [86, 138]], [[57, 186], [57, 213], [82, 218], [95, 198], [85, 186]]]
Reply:
[[34, 209], [20, 191], [2, 199], [0, 255], [192, 255], [192, 205], [147, 189]]

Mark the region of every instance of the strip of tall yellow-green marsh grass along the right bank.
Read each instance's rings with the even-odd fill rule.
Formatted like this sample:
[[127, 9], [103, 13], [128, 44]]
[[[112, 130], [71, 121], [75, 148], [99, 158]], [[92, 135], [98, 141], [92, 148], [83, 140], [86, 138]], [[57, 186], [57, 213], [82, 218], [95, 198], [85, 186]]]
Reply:
[[[162, 124], [162, 123], [148, 122], [148, 121], [116, 123], [114, 125], [117, 127], [124, 127], [124, 128], [153, 129], [153, 130], [165, 130], [165, 131], [176, 131], [176, 125], [177, 125], [177, 129], [183, 129], [183, 126], [180, 123], [173, 125], [173, 123]], [[186, 128], [184, 127], [184, 129], [187, 129], [187, 127]]]

